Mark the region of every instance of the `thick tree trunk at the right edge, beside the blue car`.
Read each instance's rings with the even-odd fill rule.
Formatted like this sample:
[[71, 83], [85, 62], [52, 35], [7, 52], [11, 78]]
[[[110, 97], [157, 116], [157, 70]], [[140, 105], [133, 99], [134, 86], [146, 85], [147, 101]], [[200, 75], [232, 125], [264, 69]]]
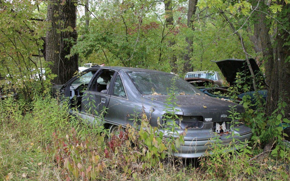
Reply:
[[[259, 1], [258, 1], [259, 3]], [[265, 63], [266, 80], [269, 85], [268, 96], [266, 103], [266, 113], [268, 116], [279, 107], [279, 103], [282, 103], [285, 107], [284, 110], [279, 110], [278, 114], [283, 115], [285, 118], [290, 117], [290, 5], [285, 1], [272, 1], [272, 13], [277, 14], [275, 19], [269, 18], [268, 1], [261, 1], [259, 6], [257, 19], [258, 19], [258, 32], [259, 38], [262, 43], [262, 55]], [[271, 7], [270, 6], [270, 7]], [[273, 8], [276, 7], [276, 8]], [[278, 12], [276, 12], [278, 10]], [[273, 17], [273, 16], [271, 16]], [[269, 19], [271, 21], [269, 21]], [[273, 23], [273, 29], [269, 28], [269, 24]], [[272, 34], [274, 34], [274, 41], [271, 42]], [[284, 103], [288, 103], [288, 105]], [[285, 129], [289, 140], [290, 129]], [[288, 132], [287, 132], [288, 131]], [[263, 151], [269, 151], [274, 139], [270, 139], [265, 145]]]

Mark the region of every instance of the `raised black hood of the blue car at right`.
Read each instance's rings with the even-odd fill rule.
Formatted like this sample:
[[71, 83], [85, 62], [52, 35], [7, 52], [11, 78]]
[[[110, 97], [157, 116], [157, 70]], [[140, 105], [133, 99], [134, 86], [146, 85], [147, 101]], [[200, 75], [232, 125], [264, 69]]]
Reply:
[[[260, 75], [263, 77], [262, 72], [260, 71], [260, 68], [258, 67], [257, 63], [253, 58], [249, 59], [251, 63], [251, 67], [253, 69], [253, 72], [255, 75]], [[212, 61], [215, 62], [218, 67], [220, 68], [222, 74], [224, 75], [224, 78], [226, 78], [226, 81], [229, 82], [231, 86], [235, 85], [236, 81], [236, 75], [238, 72], [245, 72], [245, 76], [247, 77], [245, 79], [246, 82], [251, 83], [251, 72], [249, 70], [249, 66], [247, 65], [246, 60], [241, 60], [241, 59], [226, 59], [226, 60], [221, 60], [221, 61]], [[261, 80], [262, 84], [265, 85], [265, 80], [264, 77]]]

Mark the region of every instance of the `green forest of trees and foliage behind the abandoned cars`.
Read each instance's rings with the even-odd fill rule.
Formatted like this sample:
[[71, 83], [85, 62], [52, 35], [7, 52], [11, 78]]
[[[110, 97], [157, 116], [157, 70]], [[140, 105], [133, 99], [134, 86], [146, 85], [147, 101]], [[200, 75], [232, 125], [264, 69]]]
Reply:
[[249, 114], [260, 116], [258, 127], [266, 130], [254, 143], [263, 138], [261, 148], [269, 151], [277, 135], [285, 135], [274, 126], [277, 120], [289, 121], [289, 6], [289, 0], [1, 0], [0, 76], [29, 103], [68, 81], [84, 63], [183, 76], [218, 70], [212, 60], [254, 58], [269, 92], [263, 115]]

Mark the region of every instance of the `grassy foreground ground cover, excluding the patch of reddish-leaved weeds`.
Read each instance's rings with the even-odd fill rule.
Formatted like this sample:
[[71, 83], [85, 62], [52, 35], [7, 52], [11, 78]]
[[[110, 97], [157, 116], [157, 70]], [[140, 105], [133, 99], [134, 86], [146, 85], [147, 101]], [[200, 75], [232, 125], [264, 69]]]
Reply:
[[[44, 100], [44, 102], [46, 101]], [[63, 110], [55, 104], [52, 102], [50, 105], [44, 105], [41, 101], [35, 101], [34, 105], [30, 109], [26, 109], [26, 113], [23, 114], [19, 103], [1, 101], [1, 180], [66, 180], [64, 169], [59, 168], [53, 157], [45, 151], [48, 146], [53, 145], [53, 131], [59, 130], [60, 136], [65, 139], [71, 131], [68, 117], [65, 116], [65, 113], [58, 112]], [[7, 107], [9, 109], [5, 109]], [[45, 111], [40, 111], [43, 109]], [[53, 124], [49, 123], [51, 117], [57, 116], [58, 119], [53, 120]], [[91, 134], [91, 132], [92, 130], [87, 133]], [[86, 136], [78, 132], [79, 139], [84, 139]], [[95, 144], [94, 146], [97, 147], [97, 141]], [[122, 146], [124, 147], [124, 145]], [[100, 160], [104, 161], [105, 167], [95, 180], [289, 180], [289, 175], [287, 175], [289, 172], [287, 173], [285, 166], [289, 165], [289, 160], [278, 157], [269, 157], [260, 162], [251, 160], [247, 167], [251, 168], [252, 173], [239, 169], [244, 168], [239, 165], [244, 163], [244, 160], [239, 160], [242, 159], [239, 156], [225, 159], [227, 162], [224, 162], [224, 165], [209, 164], [214, 163], [215, 159], [222, 159], [217, 157], [205, 158], [199, 164], [196, 164], [196, 159], [168, 158], [159, 161], [154, 168], [147, 167], [146, 169], [142, 168], [142, 161], [139, 159], [139, 162], [130, 163], [132, 172], [128, 174], [124, 171], [124, 167], [120, 166], [122, 164], [118, 162], [123, 156], [130, 155], [133, 151], [124, 149], [122, 154], [116, 153], [110, 158], [103, 158], [104, 153], [100, 153]], [[286, 153], [289, 153], [289, 149], [287, 151]], [[249, 157], [253, 157], [253, 155], [249, 155]], [[85, 156], [84, 158], [85, 160], [90, 159]], [[86, 164], [88, 162], [84, 163], [84, 167], [88, 166]], [[71, 177], [71, 180], [85, 180], [85, 178], [79, 175]]]

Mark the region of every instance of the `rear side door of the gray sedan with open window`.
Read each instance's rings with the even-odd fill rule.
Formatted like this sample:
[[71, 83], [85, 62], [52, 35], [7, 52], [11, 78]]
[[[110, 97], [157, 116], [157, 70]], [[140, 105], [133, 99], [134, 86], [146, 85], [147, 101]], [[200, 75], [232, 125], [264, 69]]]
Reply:
[[113, 84], [111, 82], [114, 80], [115, 73], [110, 69], [100, 70], [93, 78], [88, 90], [83, 92], [81, 115], [93, 124], [102, 124], [110, 100]]

